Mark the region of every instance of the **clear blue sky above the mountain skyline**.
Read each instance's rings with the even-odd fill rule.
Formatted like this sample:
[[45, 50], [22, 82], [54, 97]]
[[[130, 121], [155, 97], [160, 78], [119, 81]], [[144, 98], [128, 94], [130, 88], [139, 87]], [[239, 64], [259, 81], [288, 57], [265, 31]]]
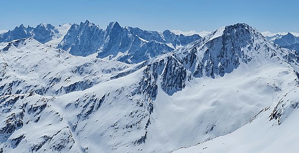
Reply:
[[0, 1], [0, 30], [23, 23], [80, 23], [86, 19], [102, 28], [110, 21], [144, 30], [213, 31], [247, 23], [260, 32], [299, 33], [298, 0], [14, 0]]

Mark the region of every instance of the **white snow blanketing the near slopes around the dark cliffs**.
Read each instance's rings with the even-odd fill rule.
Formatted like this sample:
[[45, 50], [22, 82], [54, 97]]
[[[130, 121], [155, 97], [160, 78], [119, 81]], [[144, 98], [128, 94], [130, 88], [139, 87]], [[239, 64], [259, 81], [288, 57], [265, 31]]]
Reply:
[[[69, 27], [62, 27], [63, 34], [63, 30], [66, 31]], [[0, 127], [7, 125], [6, 119], [10, 115], [22, 111], [25, 112], [22, 119], [24, 125], [8, 138], [1, 135], [0, 148], [7, 152], [29, 152], [32, 151], [32, 145], [42, 144], [44, 136], [49, 136], [51, 139], [43, 143], [38, 151], [52, 149], [58, 144], [65, 145], [61, 152], [298, 151], [299, 134], [296, 127], [299, 126], [299, 111], [297, 108], [290, 109], [290, 103], [295, 104], [298, 99], [298, 78], [294, 71], [297, 69], [293, 68], [297, 66], [282, 60], [285, 55], [283, 50], [275, 48], [262, 38], [255, 38], [260, 34], [252, 37], [254, 44], [240, 48], [251, 61], [245, 63], [240, 60], [237, 68], [228, 65], [232, 71], [225, 73], [223, 77], [217, 74], [215, 78], [192, 77], [190, 81], [186, 81], [185, 88], [168, 95], [162, 89], [163, 74], [158, 74], [157, 96], [151, 101], [151, 114], [147, 108], [149, 97], [136, 93], [142, 84], [141, 80], [153, 80], [153, 77], [146, 78], [146, 74], [150, 75], [152, 71], [144, 72], [153, 62], [162, 61], [163, 65], [163, 62], [167, 62], [164, 61], [167, 57], [186, 57], [198, 45], [198, 63], [208, 49], [204, 43], [222, 36], [223, 31], [224, 27], [206, 36], [208, 40], [204, 42], [198, 40], [172, 53], [135, 65], [97, 59], [96, 54], [88, 57], [72, 56], [64, 50], [53, 48], [56, 44], [54, 41], [46, 44], [32, 38], [19, 43], [14, 41], [8, 50], [0, 52], [0, 66], [4, 70], [0, 73], [6, 78], [1, 84], [9, 85], [19, 81], [19, 85], [12, 83], [10, 89], [13, 94], [7, 96], [25, 97], [11, 106], [4, 105], [8, 102], [0, 104], [3, 112], [0, 114]], [[222, 47], [221, 40], [213, 43], [215, 48], [209, 48], [215, 49], [210, 54], [211, 57], [220, 52], [217, 48]], [[0, 49], [9, 44], [2, 44]], [[248, 49], [249, 46], [260, 48], [252, 51]], [[232, 46], [227, 46], [230, 47]], [[289, 52], [287, 49], [284, 51]], [[270, 58], [271, 53], [277, 55]], [[126, 54], [128, 52], [118, 53], [117, 57]], [[231, 54], [227, 56], [228, 59], [233, 57]], [[211, 61], [205, 63], [209, 65]], [[161, 68], [160, 71], [164, 71], [167, 67]], [[191, 74], [191, 70], [186, 70], [186, 73]], [[57, 82], [52, 81], [59, 78]], [[82, 81], [92, 84], [80, 84]], [[144, 84], [146, 87], [148, 85]], [[42, 95], [29, 96], [30, 91], [37, 92], [37, 89], [47, 89], [42, 87], [49, 86], [49, 90], [40, 93]], [[73, 88], [76, 89], [73, 91]], [[18, 90], [20, 94], [16, 93]], [[1, 91], [3, 92], [5, 91]], [[2, 99], [4, 97], [0, 96]], [[104, 100], [100, 103], [102, 97]], [[281, 99], [284, 103], [278, 105]], [[42, 104], [47, 104], [47, 107], [40, 114], [37, 114], [38, 111], [29, 113], [30, 108]], [[24, 110], [22, 105], [26, 105]], [[269, 116], [277, 105], [284, 111], [280, 125], [277, 120], [269, 121]], [[12, 111], [4, 111], [7, 107]], [[264, 111], [259, 113], [261, 110]], [[35, 122], [38, 117], [39, 121]], [[253, 117], [255, 119], [249, 123]], [[148, 120], [150, 124], [147, 125]], [[22, 134], [25, 138], [16, 148], [11, 147], [12, 140]], [[134, 144], [145, 134], [145, 143]], [[198, 143], [200, 144], [196, 145]]]

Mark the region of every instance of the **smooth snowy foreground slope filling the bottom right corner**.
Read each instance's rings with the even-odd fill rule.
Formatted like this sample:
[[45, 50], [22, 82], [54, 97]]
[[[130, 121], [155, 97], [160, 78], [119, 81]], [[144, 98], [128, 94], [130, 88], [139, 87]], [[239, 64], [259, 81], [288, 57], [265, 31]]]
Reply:
[[274, 107], [267, 107], [252, 118], [250, 123], [231, 134], [174, 152], [298, 152], [297, 92], [298, 89], [289, 92], [281, 99], [286, 101], [283, 122], [279, 123], [275, 119], [269, 121]]

